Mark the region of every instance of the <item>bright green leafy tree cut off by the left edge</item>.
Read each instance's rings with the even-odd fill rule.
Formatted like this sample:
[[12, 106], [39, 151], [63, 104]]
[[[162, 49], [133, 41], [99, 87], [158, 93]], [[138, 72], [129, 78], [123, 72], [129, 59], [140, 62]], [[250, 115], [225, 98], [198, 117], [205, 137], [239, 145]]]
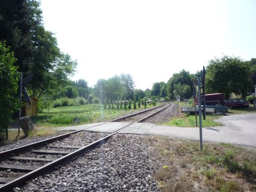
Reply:
[[[13, 64], [17, 59], [10, 47], [0, 41], [0, 134], [9, 125], [14, 111], [19, 109], [17, 95], [19, 73]], [[0, 141], [3, 137], [0, 137]]]

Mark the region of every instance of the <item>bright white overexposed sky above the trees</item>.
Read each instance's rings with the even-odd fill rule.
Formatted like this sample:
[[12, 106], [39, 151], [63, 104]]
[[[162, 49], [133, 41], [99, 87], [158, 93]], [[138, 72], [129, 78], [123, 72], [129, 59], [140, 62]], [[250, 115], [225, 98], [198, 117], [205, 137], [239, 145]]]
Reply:
[[256, 57], [256, 1], [41, 0], [46, 30], [93, 86], [122, 73], [137, 89], [195, 73], [222, 53]]

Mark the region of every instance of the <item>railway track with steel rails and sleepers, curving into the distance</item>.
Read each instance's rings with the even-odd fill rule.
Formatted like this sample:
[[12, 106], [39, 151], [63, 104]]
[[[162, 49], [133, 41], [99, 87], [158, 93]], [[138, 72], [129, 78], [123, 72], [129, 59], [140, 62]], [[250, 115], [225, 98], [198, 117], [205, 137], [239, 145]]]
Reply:
[[[101, 146], [119, 131], [124, 130], [126, 127], [129, 127], [134, 123], [142, 122], [169, 106], [169, 103], [165, 103], [162, 106], [150, 108], [136, 114], [94, 125], [99, 126], [109, 122], [119, 121], [130, 122], [130, 124], [122, 127], [114, 133], [104, 133], [103, 138], [100, 138], [102, 137], [101, 134], [96, 141], [95, 138], [94, 141], [91, 141], [90, 138], [86, 138], [86, 134], [88, 132], [85, 134], [84, 131], [94, 127], [91, 126], [83, 130], [73, 131], [0, 153], [0, 170], [4, 170], [6, 173], [4, 174], [6, 177], [0, 177], [0, 183], [3, 183], [2, 186], [0, 186], [0, 191], [11, 191], [14, 187], [21, 186], [28, 180], [67, 165], [74, 161], [74, 159], [82, 156], [84, 153], [94, 149], [95, 147]], [[81, 140], [81, 142], [79, 142], [81, 145], [72, 146], [71, 141], [75, 138], [79, 138]], [[12, 174], [9, 173], [13, 171], [18, 171], [18, 174], [15, 174], [15, 177], [18, 175], [18, 178], [11, 177]], [[3, 173], [1, 174], [3, 175]]]

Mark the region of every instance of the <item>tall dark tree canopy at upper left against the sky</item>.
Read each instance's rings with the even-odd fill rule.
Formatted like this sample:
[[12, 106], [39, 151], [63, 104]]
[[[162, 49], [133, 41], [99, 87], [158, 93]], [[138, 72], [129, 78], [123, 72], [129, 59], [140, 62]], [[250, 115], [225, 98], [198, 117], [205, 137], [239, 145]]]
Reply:
[[37, 98], [67, 81], [77, 65], [60, 52], [53, 33], [44, 29], [39, 5], [36, 0], [0, 2], [0, 37], [14, 52], [18, 70], [24, 76], [34, 74], [28, 88]]

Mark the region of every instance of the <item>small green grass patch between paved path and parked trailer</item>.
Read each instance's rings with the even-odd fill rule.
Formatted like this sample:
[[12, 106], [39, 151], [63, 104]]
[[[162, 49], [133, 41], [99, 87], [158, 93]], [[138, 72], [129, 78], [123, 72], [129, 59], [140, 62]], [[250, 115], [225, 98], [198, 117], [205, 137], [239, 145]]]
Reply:
[[[221, 126], [221, 123], [215, 122], [218, 116], [207, 115], [205, 120], [202, 120], [203, 127], [209, 126]], [[199, 126], [199, 117], [197, 116], [197, 122]], [[194, 115], [180, 115], [179, 117], [173, 117], [169, 122], [164, 125], [179, 126], [179, 127], [196, 127], [196, 120]]]

